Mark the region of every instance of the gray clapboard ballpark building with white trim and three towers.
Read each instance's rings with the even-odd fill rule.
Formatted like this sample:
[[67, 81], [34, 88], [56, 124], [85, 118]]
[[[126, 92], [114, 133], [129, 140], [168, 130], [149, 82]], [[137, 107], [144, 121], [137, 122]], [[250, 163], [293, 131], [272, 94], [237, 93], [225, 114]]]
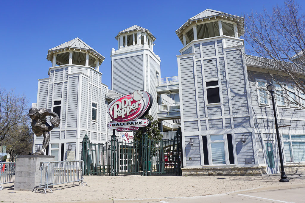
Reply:
[[[118, 48], [111, 51], [111, 90], [99, 71], [104, 57], [79, 38], [48, 50], [52, 67], [49, 77], [39, 80], [37, 107], [58, 112], [62, 122], [51, 131], [46, 153], [80, 159], [84, 134], [94, 142], [108, 141], [108, 102], [141, 89], [153, 96], [150, 114], [163, 139], [181, 126], [184, 174], [278, 173], [266, 89], [273, 81], [255, 56], [244, 54], [243, 18], [206, 9], [176, 33], [183, 45], [178, 76], [161, 78], [152, 33], [137, 25], [119, 32]], [[281, 84], [298, 92], [290, 81]], [[287, 102], [278, 86], [277, 91], [279, 125], [291, 125], [280, 128], [286, 170], [304, 170], [305, 110]], [[41, 143], [36, 137], [34, 147]]]

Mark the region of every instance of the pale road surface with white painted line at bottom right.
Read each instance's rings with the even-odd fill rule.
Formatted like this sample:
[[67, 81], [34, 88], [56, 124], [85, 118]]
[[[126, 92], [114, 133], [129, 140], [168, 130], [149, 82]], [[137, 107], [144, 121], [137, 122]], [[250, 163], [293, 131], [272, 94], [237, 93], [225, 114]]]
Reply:
[[159, 203], [236, 203], [236, 202], [305, 202], [305, 187], [285, 189], [285, 190], [274, 190], [274, 191], [263, 191], [263, 192], [249, 192], [242, 194], [225, 194], [225, 195], [214, 195], [206, 196], [203, 198], [181, 198], [181, 199], [167, 199], [158, 201]]

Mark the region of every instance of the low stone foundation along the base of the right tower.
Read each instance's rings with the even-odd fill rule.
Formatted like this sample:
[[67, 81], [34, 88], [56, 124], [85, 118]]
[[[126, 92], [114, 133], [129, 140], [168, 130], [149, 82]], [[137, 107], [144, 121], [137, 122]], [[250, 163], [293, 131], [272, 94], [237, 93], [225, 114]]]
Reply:
[[216, 168], [182, 168], [182, 176], [199, 175], [261, 175], [267, 174], [266, 166], [257, 167], [216, 167]]

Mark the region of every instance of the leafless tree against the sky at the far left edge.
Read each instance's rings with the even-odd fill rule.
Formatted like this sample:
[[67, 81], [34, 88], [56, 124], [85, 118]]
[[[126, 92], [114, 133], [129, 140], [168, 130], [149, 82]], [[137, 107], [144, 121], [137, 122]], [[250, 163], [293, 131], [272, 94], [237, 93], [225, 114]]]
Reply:
[[12, 136], [20, 124], [27, 121], [28, 100], [25, 95], [15, 95], [13, 90], [0, 87], [0, 142]]

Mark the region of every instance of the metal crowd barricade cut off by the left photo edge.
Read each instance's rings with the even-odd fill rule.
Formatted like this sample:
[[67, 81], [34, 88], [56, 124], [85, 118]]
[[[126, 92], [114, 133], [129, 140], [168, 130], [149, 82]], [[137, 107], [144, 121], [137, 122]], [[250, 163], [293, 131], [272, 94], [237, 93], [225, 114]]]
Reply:
[[16, 162], [0, 163], [0, 190], [1, 184], [13, 183], [15, 181]]

